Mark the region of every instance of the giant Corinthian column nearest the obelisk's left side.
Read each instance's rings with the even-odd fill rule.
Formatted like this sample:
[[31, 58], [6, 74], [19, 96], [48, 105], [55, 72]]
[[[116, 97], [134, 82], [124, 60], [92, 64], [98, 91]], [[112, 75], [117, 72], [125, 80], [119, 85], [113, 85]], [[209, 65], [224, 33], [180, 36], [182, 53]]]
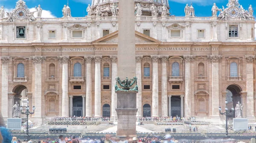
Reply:
[[111, 117], [116, 116], [116, 92], [115, 92], [115, 84], [117, 77], [117, 56], [110, 56], [112, 62], [112, 75], [111, 75]]

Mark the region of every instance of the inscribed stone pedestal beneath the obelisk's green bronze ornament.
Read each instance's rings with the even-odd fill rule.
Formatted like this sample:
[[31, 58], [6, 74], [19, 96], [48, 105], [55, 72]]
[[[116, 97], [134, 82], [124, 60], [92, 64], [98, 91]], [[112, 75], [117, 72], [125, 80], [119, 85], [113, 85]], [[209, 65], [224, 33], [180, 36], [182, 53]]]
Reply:
[[116, 137], [136, 137], [136, 97], [137, 92], [117, 92], [117, 131]]

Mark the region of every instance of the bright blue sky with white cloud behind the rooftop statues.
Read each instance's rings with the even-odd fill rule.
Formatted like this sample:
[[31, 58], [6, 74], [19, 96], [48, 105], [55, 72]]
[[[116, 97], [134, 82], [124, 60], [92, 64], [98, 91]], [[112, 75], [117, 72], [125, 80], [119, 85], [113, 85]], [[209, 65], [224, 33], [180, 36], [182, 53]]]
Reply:
[[[5, 6], [6, 11], [15, 8], [17, 0], [0, 0], [0, 6]], [[73, 17], [84, 17], [86, 15], [86, 8], [91, 4], [92, 0], [69, 0], [71, 14]], [[34, 10], [38, 4], [44, 9], [42, 17], [62, 17], [61, 9], [67, 0], [25, 0], [27, 6]], [[197, 17], [211, 16], [211, 8], [213, 3], [216, 3], [219, 8], [226, 7], [228, 0], [169, 0], [171, 7], [170, 12], [175, 16], [184, 16], [184, 7], [186, 3], [193, 3], [195, 14]], [[256, 0], [239, 0], [239, 3], [248, 9], [251, 4], [254, 9], [256, 17]], [[33, 8], [33, 9], [32, 9]]]

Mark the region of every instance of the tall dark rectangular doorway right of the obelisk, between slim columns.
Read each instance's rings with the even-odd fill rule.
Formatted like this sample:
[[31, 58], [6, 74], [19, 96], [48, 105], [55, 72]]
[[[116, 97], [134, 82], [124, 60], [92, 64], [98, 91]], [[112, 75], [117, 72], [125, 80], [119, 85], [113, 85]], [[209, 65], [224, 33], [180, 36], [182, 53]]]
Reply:
[[172, 96], [171, 98], [171, 115], [172, 117], [181, 117], [181, 100], [179, 96]]

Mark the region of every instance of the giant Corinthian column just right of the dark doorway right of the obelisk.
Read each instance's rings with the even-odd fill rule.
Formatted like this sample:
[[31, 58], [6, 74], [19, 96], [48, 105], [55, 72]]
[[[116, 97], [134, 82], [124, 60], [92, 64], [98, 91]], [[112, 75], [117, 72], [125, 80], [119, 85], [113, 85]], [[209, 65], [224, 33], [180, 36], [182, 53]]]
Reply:
[[184, 56], [185, 60], [185, 117], [191, 117], [191, 61], [195, 56]]

